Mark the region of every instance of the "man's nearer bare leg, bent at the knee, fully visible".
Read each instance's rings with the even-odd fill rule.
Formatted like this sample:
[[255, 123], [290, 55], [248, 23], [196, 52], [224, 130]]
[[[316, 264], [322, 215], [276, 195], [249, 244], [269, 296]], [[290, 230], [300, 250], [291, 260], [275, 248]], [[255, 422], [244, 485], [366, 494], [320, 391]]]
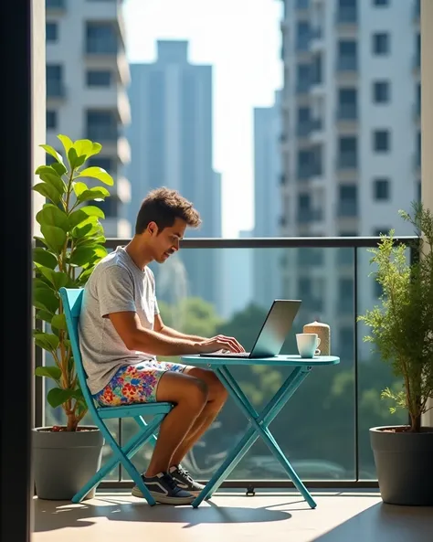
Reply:
[[206, 383], [193, 376], [167, 372], [161, 378], [156, 392], [158, 401], [174, 402], [176, 406], [161, 424], [158, 440], [145, 475], [167, 473], [174, 452], [191, 430], [207, 404]]

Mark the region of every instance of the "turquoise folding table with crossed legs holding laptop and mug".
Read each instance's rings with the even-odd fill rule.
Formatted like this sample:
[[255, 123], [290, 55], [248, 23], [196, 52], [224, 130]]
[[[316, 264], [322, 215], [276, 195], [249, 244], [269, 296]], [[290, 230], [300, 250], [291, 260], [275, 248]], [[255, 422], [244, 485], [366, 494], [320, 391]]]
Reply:
[[[302, 484], [300, 477], [295, 473], [289, 460], [281, 451], [277, 441], [275, 441], [272, 433], [269, 430], [269, 424], [280, 413], [286, 403], [289, 401], [294, 392], [301, 386], [301, 383], [309, 375], [313, 368], [331, 366], [340, 363], [340, 358], [335, 356], [314, 356], [313, 358], [301, 358], [301, 356], [274, 356], [263, 359], [239, 358], [239, 357], [205, 357], [205, 356], [183, 356], [183, 363], [195, 367], [211, 368], [216, 376], [227, 388], [227, 392], [235, 400], [239, 409], [245, 414], [248, 419], [248, 429], [244, 436], [238, 441], [236, 446], [228, 452], [226, 460], [221, 464], [216, 473], [212, 476], [205, 488], [195, 498], [193, 506], [196, 508], [209, 495], [213, 494], [216, 489], [222, 484], [227, 476], [233, 471], [238, 462], [244, 457], [251, 446], [259, 437], [269, 447], [270, 452], [281, 463], [283, 469], [290, 476], [291, 481], [301, 493], [303, 498], [312, 507], [316, 507], [316, 503], [312, 495]], [[265, 365], [272, 367], [293, 367], [289, 377], [286, 378], [280, 389], [269, 400], [268, 405], [259, 413], [251, 405], [248, 397], [239, 387], [236, 378], [231, 374], [229, 367], [246, 365]]]

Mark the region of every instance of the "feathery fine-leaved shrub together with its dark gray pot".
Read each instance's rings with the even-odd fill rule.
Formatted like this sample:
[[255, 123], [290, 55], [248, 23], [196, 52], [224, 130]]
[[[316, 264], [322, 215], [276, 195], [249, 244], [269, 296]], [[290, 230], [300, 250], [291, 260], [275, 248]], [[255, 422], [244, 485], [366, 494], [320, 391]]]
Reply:
[[385, 503], [433, 505], [433, 428], [422, 417], [433, 398], [433, 216], [422, 204], [413, 204], [410, 222], [417, 233], [414, 258], [407, 261], [407, 246], [394, 242], [394, 230], [381, 236], [370, 250], [376, 281], [382, 287], [381, 306], [366, 311], [364, 322], [382, 360], [391, 364], [402, 388], [386, 388], [382, 398], [396, 409], [407, 409], [407, 425], [370, 429], [379, 488]]

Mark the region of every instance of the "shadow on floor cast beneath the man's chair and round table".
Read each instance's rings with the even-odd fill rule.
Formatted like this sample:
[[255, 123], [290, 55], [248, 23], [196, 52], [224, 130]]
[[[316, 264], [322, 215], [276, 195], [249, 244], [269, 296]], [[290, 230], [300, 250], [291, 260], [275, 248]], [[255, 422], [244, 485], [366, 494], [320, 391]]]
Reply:
[[35, 499], [34, 531], [92, 526], [92, 519], [96, 517], [106, 517], [111, 521], [183, 523], [183, 528], [200, 524], [275, 522], [291, 517], [289, 512], [272, 510], [271, 507], [217, 506], [210, 501], [208, 504], [195, 509], [191, 506], [149, 506], [145, 502], [131, 502], [111, 496], [98, 496], [89, 503], [83, 502], [79, 505]]

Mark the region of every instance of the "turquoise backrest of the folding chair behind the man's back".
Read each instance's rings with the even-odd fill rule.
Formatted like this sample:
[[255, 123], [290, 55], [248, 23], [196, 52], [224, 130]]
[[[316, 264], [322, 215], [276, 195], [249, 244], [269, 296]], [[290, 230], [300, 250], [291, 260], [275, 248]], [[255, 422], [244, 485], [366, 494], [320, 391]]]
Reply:
[[60, 288], [60, 298], [63, 303], [65, 312], [66, 324], [68, 326], [69, 340], [74, 356], [75, 367], [79, 377], [79, 386], [86, 399], [90, 414], [96, 414], [95, 403], [90, 394], [90, 389], [87, 385], [87, 375], [84, 370], [81, 352], [79, 350], [79, 314], [81, 313], [81, 303], [84, 290], [82, 288]]

